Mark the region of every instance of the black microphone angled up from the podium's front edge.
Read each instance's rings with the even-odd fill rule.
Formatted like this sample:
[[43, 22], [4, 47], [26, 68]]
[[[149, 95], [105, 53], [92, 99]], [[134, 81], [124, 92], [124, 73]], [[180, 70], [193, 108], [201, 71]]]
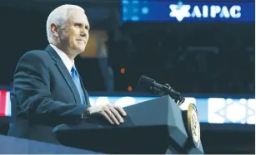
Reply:
[[147, 76], [142, 75], [138, 80], [138, 87], [143, 88], [143, 90], [150, 90], [153, 91], [154, 94], [158, 95], [166, 95], [168, 94], [171, 96], [174, 101], [181, 105], [183, 104], [185, 98], [180, 96], [180, 93], [178, 91], [175, 91], [172, 89], [172, 87], [168, 84], [158, 84], [156, 80], [153, 80], [152, 78], [149, 78]]

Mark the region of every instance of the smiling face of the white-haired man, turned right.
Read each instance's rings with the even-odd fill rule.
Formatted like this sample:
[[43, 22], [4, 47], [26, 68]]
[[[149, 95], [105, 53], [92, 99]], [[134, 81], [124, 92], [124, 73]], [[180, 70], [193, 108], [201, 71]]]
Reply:
[[58, 31], [60, 46], [68, 55], [77, 56], [85, 50], [89, 38], [88, 31], [88, 18], [84, 12], [70, 10], [68, 21]]

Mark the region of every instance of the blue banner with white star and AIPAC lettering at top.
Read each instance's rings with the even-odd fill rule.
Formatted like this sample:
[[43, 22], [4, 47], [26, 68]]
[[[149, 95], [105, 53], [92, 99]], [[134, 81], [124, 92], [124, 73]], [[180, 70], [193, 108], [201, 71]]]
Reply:
[[254, 22], [254, 2], [122, 0], [122, 22]]

